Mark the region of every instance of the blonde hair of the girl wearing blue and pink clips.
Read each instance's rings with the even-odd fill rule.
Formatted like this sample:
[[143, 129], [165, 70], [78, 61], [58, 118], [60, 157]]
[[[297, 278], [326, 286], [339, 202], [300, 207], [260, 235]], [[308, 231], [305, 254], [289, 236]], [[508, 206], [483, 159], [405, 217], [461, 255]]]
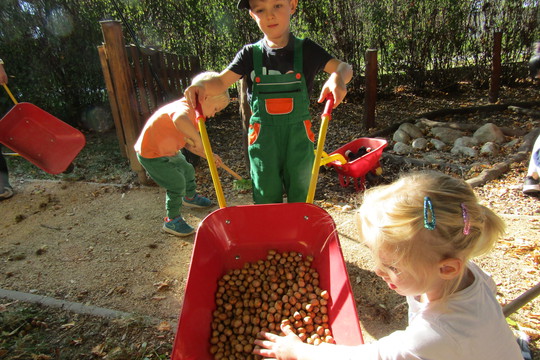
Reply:
[[[433, 211], [425, 209], [428, 197]], [[435, 227], [424, 224], [434, 216]], [[504, 222], [478, 203], [469, 184], [436, 171], [412, 172], [389, 185], [368, 189], [357, 213], [361, 239], [380, 265], [378, 254], [391, 254], [395, 263], [418, 280], [433, 265], [448, 258], [467, 260], [492, 249], [504, 233]], [[443, 298], [453, 293], [465, 271], [449, 281]]]

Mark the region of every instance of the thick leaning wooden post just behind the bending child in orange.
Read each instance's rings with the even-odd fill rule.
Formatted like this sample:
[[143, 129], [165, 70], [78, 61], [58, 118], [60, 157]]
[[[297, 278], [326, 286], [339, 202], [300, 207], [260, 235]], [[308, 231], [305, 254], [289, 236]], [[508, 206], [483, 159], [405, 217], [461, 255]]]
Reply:
[[126, 52], [126, 44], [122, 33], [122, 25], [119, 21], [101, 21], [101, 30], [105, 40], [105, 55], [109, 63], [112, 86], [116, 95], [118, 113], [122, 119], [122, 131], [125, 139], [125, 150], [131, 169], [137, 172], [139, 180], [146, 183], [146, 172], [137, 159], [133, 144], [139, 137], [139, 129], [135, 113], [137, 109], [137, 99], [135, 99], [135, 89], [131, 80], [130, 65]]

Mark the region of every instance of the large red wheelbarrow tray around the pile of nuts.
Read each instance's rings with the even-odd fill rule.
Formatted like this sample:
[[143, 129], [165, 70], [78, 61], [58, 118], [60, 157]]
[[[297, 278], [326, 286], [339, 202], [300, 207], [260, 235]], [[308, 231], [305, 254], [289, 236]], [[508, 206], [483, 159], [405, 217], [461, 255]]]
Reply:
[[225, 207], [208, 215], [195, 237], [172, 360], [212, 359], [212, 312], [218, 280], [269, 250], [313, 256], [320, 288], [330, 293], [330, 327], [338, 344], [363, 343], [335, 223], [308, 203]]

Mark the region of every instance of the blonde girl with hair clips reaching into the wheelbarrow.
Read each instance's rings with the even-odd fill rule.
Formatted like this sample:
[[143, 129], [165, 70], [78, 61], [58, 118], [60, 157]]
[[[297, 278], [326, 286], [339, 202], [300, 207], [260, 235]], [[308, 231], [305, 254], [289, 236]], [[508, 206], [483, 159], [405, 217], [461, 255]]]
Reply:
[[504, 223], [461, 179], [403, 175], [367, 190], [356, 220], [375, 272], [406, 296], [409, 325], [359, 346], [304, 344], [290, 328], [263, 333], [254, 353], [275, 359], [523, 359], [495, 298], [495, 283], [470, 259], [489, 251]]

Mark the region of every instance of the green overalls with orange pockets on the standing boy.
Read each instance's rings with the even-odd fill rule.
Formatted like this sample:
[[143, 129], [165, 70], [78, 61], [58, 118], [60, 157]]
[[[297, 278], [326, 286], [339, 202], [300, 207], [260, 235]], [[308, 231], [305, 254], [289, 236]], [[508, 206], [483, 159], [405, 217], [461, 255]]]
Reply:
[[249, 159], [256, 204], [305, 202], [314, 155], [303, 40], [294, 38], [294, 72], [262, 74], [262, 42], [253, 46]]

